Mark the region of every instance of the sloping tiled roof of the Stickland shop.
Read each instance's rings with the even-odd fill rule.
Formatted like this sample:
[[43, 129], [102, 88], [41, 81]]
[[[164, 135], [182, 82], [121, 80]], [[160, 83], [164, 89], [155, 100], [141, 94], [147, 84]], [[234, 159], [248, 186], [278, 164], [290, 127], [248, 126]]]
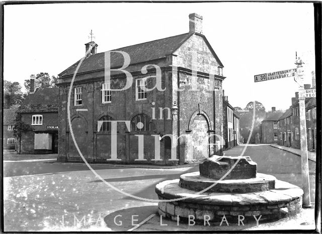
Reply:
[[28, 94], [17, 112], [55, 112], [58, 111], [58, 103], [58, 88], [38, 88]]

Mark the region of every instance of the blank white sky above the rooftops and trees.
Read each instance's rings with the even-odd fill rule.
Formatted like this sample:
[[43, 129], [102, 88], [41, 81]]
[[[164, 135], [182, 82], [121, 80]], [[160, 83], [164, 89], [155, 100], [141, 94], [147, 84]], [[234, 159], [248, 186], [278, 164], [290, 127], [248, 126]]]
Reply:
[[91, 29], [98, 52], [189, 31], [190, 13], [224, 65], [225, 95], [244, 108], [258, 100], [286, 109], [293, 78], [254, 83], [254, 75], [295, 68], [302, 55], [306, 82], [314, 70], [311, 3], [42, 4], [5, 6], [4, 78], [22, 86], [31, 74], [57, 75], [85, 55]]

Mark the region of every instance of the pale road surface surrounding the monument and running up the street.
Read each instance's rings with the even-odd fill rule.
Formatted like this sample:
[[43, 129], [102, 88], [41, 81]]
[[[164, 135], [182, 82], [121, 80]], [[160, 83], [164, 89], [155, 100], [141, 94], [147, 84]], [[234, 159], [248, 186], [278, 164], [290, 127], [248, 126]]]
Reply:
[[[243, 147], [239, 146], [226, 151], [225, 155], [237, 156], [241, 151]], [[250, 146], [245, 156], [251, 156], [258, 163], [258, 172], [301, 186], [300, 157], [268, 145]], [[144, 169], [94, 166], [111, 185], [143, 198], [138, 200], [103, 183], [86, 165], [17, 161], [5, 162], [4, 167], [7, 231], [75, 230], [75, 217], [81, 220], [84, 215], [86, 223], [83, 220], [79, 227], [85, 228], [82, 230], [95, 231], [93, 226], [104, 222], [104, 217], [109, 218], [106, 220], [109, 227], [97, 230], [128, 230], [132, 227], [127, 218], [129, 213], [138, 214], [137, 222], [140, 222], [155, 212], [157, 203], [144, 199], [157, 199], [154, 187], [158, 182], [198, 170], [198, 167]], [[309, 168], [313, 201], [315, 163], [310, 161]], [[124, 214], [123, 225], [118, 226], [114, 224], [113, 214], [120, 210], [127, 215]], [[144, 225], [141, 228], [144, 230]]]

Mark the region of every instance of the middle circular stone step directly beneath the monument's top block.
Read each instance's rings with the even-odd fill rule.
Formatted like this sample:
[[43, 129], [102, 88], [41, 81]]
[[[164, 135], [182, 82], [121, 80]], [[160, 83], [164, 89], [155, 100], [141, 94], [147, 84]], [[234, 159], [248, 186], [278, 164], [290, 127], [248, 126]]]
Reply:
[[256, 178], [218, 181], [201, 176], [197, 171], [181, 175], [179, 186], [193, 191], [201, 191], [216, 183], [207, 189], [207, 192], [248, 193], [274, 189], [275, 180], [274, 176], [257, 173]]

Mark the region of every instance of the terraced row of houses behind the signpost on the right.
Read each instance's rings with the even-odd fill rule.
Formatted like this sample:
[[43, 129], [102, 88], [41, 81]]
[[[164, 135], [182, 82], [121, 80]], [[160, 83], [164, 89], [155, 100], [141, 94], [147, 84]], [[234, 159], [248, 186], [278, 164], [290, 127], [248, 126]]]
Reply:
[[[310, 86], [305, 85], [308, 89]], [[316, 149], [316, 98], [305, 98], [307, 149]], [[298, 92], [292, 97], [292, 105], [278, 121], [278, 144], [300, 149], [300, 112]]]

